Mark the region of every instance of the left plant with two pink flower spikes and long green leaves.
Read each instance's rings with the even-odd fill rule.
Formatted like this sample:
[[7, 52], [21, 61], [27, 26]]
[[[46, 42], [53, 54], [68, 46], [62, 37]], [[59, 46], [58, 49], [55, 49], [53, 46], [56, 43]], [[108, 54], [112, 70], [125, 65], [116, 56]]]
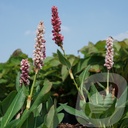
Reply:
[[[51, 98], [52, 83], [44, 79], [43, 87], [37, 80], [37, 75], [44, 65], [45, 40], [44, 24], [40, 22], [37, 29], [33, 64], [34, 77], [31, 82], [28, 59], [22, 59], [20, 70], [16, 79], [16, 91], [11, 92], [0, 104], [1, 128], [55, 128], [62, 120], [63, 114], [58, 113], [56, 104]], [[32, 85], [31, 85], [32, 84]], [[8, 107], [7, 107], [8, 106]]]

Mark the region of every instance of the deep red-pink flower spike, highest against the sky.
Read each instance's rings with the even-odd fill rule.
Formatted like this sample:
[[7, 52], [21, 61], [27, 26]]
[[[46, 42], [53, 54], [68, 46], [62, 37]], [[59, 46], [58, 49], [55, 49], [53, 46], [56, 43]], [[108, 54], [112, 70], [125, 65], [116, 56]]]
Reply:
[[61, 25], [61, 21], [60, 21], [60, 18], [58, 16], [58, 9], [57, 9], [56, 6], [52, 7], [51, 23], [52, 23], [52, 26], [53, 26], [53, 30], [52, 30], [53, 40], [55, 41], [55, 43], [58, 46], [62, 47], [64, 37], [62, 36], [62, 34], [60, 34], [60, 31], [61, 31], [61, 26], [60, 26]]

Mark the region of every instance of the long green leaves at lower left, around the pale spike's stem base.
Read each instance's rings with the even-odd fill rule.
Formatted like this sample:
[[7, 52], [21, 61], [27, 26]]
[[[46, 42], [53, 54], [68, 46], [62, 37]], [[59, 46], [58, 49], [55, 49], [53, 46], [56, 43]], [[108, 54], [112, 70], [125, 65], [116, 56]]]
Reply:
[[[29, 110], [25, 109], [25, 92], [28, 90], [22, 86], [17, 92], [10, 93], [0, 104], [1, 128], [55, 128], [63, 119], [63, 114], [56, 109], [56, 105], [50, 98], [52, 83], [44, 81], [43, 88], [38, 96], [33, 99]], [[8, 106], [8, 108], [7, 108]], [[3, 108], [5, 107], [5, 108]], [[19, 117], [18, 117], [19, 116]]]

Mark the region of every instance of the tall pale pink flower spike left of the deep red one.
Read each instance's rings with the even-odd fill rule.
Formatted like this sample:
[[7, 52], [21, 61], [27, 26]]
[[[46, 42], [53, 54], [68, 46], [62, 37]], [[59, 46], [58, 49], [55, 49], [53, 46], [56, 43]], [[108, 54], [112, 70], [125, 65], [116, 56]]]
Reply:
[[44, 39], [44, 23], [40, 22], [37, 28], [36, 43], [34, 50], [33, 62], [36, 70], [40, 70], [43, 66], [43, 60], [46, 57], [45, 39]]

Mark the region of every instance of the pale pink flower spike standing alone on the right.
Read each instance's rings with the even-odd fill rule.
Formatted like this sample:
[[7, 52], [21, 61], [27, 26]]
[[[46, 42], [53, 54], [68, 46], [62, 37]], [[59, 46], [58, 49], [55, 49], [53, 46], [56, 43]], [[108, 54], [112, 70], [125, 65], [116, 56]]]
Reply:
[[114, 49], [113, 49], [113, 38], [109, 37], [106, 40], [106, 56], [105, 56], [105, 64], [104, 66], [107, 67], [108, 70], [110, 70], [113, 67], [113, 54], [114, 54]]

